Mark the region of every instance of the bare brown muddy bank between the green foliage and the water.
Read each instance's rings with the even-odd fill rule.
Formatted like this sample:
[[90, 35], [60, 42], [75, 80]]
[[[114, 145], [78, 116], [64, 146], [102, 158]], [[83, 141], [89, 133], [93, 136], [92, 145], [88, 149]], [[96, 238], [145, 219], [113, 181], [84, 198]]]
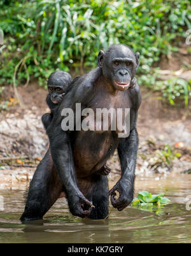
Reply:
[[[167, 60], [163, 62], [166, 64]], [[181, 64], [174, 70], [180, 68]], [[162, 71], [168, 75], [171, 72]], [[190, 78], [191, 71], [181, 71], [182, 74]], [[141, 92], [143, 100], [138, 116], [136, 174], [158, 173], [159, 177], [165, 177], [172, 172], [189, 172], [190, 104], [187, 108], [177, 108], [167, 104], [157, 92], [148, 91], [145, 87], [141, 87]], [[24, 104], [22, 108], [13, 100], [13, 87], [6, 86], [3, 92], [3, 100], [12, 100], [9, 109], [0, 113], [0, 188], [25, 186], [25, 181], [31, 180], [39, 160], [48, 148], [48, 138], [41, 124], [41, 115], [49, 111], [45, 103], [46, 93], [36, 82], [29, 83], [27, 87], [21, 85], [18, 94]], [[110, 180], [115, 180], [120, 173], [117, 152], [108, 160], [108, 165], [111, 167]]]

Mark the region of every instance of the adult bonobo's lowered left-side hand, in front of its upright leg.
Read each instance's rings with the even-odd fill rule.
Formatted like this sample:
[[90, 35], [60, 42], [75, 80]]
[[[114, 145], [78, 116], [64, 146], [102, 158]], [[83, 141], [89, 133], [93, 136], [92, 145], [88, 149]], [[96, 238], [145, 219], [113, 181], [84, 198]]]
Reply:
[[74, 216], [85, 218], [90, 215], [94, 206], [83, 194], [73, 194], [68, 198], [69, 210]]

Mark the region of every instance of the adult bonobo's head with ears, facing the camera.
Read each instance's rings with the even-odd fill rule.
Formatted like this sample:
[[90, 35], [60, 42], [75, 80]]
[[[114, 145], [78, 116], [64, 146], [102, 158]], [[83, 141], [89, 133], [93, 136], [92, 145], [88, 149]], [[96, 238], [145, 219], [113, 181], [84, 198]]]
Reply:
[[125, 45], [113, 45], [99, 52], [97, 63], [103, 76], [116, 90], [127, 90], [139, 66], [139, 53], [134, 54]]

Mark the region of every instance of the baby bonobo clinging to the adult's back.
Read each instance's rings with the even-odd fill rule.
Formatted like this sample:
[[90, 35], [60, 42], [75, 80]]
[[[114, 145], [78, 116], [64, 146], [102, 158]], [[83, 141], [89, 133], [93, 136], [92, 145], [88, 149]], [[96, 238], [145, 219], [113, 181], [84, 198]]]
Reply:
[[71, 81], [71, 75], [65, 71], [55, 71], [48, 77], [48, 95], [46, 97], [46, 103], [48, 104], [51, 113], [45, 113], [42, 116], [42, 122], [45, 129], [50, 125], [53, 113], [61, 103]]

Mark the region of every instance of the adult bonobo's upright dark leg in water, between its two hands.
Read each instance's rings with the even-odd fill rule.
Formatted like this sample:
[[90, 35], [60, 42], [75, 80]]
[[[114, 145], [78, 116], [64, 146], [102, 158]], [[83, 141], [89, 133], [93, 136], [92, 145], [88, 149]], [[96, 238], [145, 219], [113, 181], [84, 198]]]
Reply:
[[94, 188], [92, 190], [92, 209], [89, 218], [100, 220], [108, 216], [108, 177], [103, 175], [94, 175]]

